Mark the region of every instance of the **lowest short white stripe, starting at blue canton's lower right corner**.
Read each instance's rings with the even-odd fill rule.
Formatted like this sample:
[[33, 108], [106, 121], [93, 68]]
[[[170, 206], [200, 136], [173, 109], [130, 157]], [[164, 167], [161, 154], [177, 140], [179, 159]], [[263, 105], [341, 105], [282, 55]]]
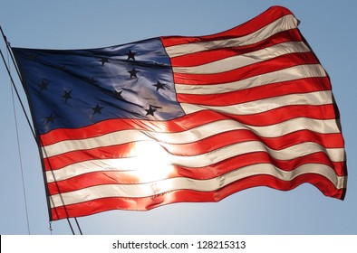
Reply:
[[254, 100], [242, 104], [212, 107], [201, 106], [194, 104], [181, 103], [181, 108], [186, 114], [195, 113], [201, 110], [214, 110], [220, 113], [227, 113], [232, 115], [252, 115], [257, 113], [266, 112], [275, 108], [283, 108], [286, 106], [297, 105], [329, 105], [333, 103], [332, 94], [330, 90], [327, 91], [315, 91], [303, 94], [289, 94], [285, 96], [275, 98], [265, 98], [260, 100]]

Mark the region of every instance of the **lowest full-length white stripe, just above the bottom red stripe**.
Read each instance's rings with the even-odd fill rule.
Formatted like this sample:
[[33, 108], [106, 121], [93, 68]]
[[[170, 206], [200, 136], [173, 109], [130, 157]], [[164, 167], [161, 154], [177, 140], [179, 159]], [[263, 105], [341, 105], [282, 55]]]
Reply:
[[178, 177], [154, 183], [92, 186], [74, 192], [62, 193], [61, 196], [59, 194], [51, 196], [51, 207], [63, 206], [63, 202], [70, 205], [108, 197], [144, 198], [178, 190], [212, 192], [227, 186], [229, 183], [253, 175], [272, 175], [284, 181], [292, 181], [295, 177], [304, 173], [321, 174], [330, 180], [337, 189], [343, 188], [345, 177], [337, 176], [333, 169], [324, 164], [304, 164], [291, 172], [280, 170], [272, 164], [253, 164], [208, 180]]

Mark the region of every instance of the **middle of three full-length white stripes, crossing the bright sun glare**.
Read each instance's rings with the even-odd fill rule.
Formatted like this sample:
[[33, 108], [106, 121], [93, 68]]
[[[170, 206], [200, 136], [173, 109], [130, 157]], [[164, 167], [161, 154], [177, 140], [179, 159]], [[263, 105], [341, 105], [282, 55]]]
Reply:
[[[344, 161], [343, 148], [324, 148], [322, 145], [307, 142], [298, 145], [292, 145], [281, 150], [271, 149], [258, 141], [249, 141], [227, 145], [202, 155], [170, 155], [168, 153], [159, 154], [159, 159], [152, 157], [119, 158], [119, 159], [102, 159], [86, 161], [78, 164], [68, 165], [59, 170], [46, 172], [47, 182], [62, 181], [82, 173], [91, 173], [99, 171], [148, 171], [152, 174], [158, 172], [167, 174], [172, 165], [180, 165], [189, 168], [199, 168], [217, 164], [237, 155], [245, 155], [256, 152], [266, 152], [275, 159], [282, 161], [292, 160], [305, 155], [312, 155], [323, 152], [328, 155], [333, 162]], [[145, 154], [150, 153], [146, 151]], [[143, 156], [145, 156], [145, 154]], [[158, 154], [151, 154], [158, 155]], [[150, 160], [151, 158], [151, 160]], [[145, 160], [143, 163], [142, 161]], [[144, 168], [142, 166], [145, 166]], [[157, 180], [152, 179], [150, 180]]]

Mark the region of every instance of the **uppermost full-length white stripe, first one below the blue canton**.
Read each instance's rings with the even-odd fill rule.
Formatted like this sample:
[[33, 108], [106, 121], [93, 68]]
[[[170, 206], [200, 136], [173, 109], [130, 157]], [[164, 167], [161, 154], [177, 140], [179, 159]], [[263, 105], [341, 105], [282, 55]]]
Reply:
[[294, 131], [304, 129], [321, 134], [340, 133], [334, 119], [322, 120], [297, 117], [271, 126], [248, 126], [237, 122], [236, 120], [225, 119], [178, 133], [155, 133], [140, 130], [123, 130], [88, 139], [58, 142], [53, 145], [43, 146], [42, 151], [43, 157], [46, 158], [75, 150], [120, 145], [134, 141], [158, 140], [162, 143], [186, 144], [197, 142], [208, 136], [214, 136], [219, 133], [239, 129], [253, 131], [257, 136], [262, 137], [284, 136], [286, 134], [293, 133]]

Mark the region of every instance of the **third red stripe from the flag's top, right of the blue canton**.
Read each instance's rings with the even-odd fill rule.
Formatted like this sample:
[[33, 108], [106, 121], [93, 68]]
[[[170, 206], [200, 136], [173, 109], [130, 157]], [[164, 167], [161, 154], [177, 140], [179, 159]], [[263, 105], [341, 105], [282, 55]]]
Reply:
[[220, 84], [245, 80], [257, 75], [266, 74], [276, 70], [284, 70], [298, 65], [318, 63], [319, 61], [315, 57], [314, 52], [290, 53], [275, 57], [272, 60], [262, 61], [236, 70], [229, 70], [216, 74], [187, 74], [174, 72], [174, 81], [179, 84]]

